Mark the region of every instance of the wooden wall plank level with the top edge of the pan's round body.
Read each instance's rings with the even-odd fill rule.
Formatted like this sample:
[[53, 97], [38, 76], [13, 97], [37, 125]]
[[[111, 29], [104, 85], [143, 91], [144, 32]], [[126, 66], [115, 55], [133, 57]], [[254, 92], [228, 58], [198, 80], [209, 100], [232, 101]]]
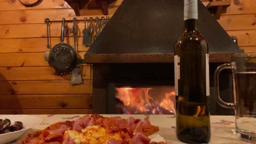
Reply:
[[[46, 28], [45, 28], [46, 29]], [[87, 51], [89, 46], [84, 46], [83, 37], [77, 38], [77, 50]], [[50, 47], [60, 43], [60, 38], [50, 38]], [[74, 47], [73, 37], [66, 37], [64, 43]], [[45, 52], [47, 38], [24, 38], [24, 39], [0, 39], [0, 53], [7, 52]]]

